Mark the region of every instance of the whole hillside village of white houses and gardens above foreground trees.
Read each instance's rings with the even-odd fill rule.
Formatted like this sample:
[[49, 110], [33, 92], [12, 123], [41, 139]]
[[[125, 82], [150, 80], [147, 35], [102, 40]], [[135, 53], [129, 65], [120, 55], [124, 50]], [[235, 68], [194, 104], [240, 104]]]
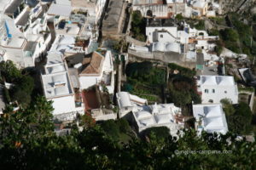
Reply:
[[1, 116], [44, 96], [57, 136], [97, 124], [124, 143], [189, 129], [255, 142], [255, 1], [0, 4]]

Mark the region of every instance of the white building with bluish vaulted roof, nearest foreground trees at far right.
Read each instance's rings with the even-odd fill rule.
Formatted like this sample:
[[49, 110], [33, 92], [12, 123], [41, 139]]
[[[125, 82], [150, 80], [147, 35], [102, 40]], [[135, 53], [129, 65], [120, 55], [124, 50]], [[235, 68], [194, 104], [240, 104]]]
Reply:
[[221, 104], [193, 105], [195, 116], [195, 129], [201, 133], [227, 133], [228, 125]]

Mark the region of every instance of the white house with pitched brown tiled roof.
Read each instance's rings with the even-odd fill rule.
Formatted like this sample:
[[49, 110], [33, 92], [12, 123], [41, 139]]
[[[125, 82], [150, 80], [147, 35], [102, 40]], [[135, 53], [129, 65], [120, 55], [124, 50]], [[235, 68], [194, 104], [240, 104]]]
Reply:
[[79, 88], [86, 89], [99, 85], [104, 91], [113, 94], [114, 74], [113, 58], [111, 51], [98, 50], [90, 54], [67, 54], [66, 58], [69, 71], [78, 79]]

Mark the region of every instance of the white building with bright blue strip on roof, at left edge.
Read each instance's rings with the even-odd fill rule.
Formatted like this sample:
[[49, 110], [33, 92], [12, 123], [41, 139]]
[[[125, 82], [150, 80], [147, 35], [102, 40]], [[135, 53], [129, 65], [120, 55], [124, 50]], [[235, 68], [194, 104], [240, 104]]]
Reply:
[[[13, 19], [2, 16], [5, 20], [0, 23], [3, 25], [1, 30], [0, 48], [3, 50], [1, 55], [3, 60], [12, 60], [22, 68], [34, 66], [40, 54], [44, 53], [49, 45], [50, 34], [40, 34], [31, 32], [21, 32]], [[35, 33], [35, 34], [33, 34]], [[28, 38], [26, 38], [26, 36]]]

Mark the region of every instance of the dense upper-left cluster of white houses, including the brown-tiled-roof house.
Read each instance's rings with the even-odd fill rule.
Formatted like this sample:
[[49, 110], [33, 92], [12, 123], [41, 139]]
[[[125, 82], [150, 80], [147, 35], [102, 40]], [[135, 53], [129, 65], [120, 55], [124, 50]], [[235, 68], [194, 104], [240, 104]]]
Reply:
[[[56, 119], [73, 120], [89, 105], [83, 89], [113, 94], [113, 54], [98, 48], [106, 1], [1, 1], [0, 60], [19, 68], [43, 65], [44, 96]], [[95, 94], [96, 95], [96, 94]], [[90, 100], [90, 99], [89, 99]]]

